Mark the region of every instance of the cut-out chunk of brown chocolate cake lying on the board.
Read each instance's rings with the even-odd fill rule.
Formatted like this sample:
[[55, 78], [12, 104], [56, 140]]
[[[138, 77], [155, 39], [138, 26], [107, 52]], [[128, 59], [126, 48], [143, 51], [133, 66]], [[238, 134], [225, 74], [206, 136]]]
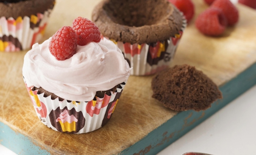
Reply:
[[153, 98], [176, 111], [206, 110], [222, 94], [209, 77], [190, 65], [176, 65], [152, 79]]

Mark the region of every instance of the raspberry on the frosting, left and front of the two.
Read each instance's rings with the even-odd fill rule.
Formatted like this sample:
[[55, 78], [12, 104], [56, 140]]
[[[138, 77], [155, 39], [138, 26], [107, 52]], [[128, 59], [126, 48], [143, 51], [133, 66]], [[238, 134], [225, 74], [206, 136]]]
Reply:
[[49, 50], [57, 60], [66, 60], [74, 55], [77, 46], [77, 34], [70, 26], [63, 26], [50, 40]]

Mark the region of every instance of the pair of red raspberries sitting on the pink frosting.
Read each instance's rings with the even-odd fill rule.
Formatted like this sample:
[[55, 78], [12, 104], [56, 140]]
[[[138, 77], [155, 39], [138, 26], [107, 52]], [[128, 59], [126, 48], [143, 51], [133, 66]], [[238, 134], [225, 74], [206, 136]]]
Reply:
[[89, 19], [78, 17], [73, 21], [73, 28], [63, 26], [50, 40], [49, 50], [57, 60], [66, 60], [76, 52], [77, 45], [100, 42], [100, 30]]

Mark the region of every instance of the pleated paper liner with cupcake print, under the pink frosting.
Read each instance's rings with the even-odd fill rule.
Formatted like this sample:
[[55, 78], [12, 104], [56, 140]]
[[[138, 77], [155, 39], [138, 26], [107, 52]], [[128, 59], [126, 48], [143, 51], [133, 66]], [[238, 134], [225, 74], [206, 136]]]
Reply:
[[126, 81], [121, 83], [116, 92], [105, 94], [103, 98], [97, 96], [90, 102], [54, 100], [51, 96], [39, 94], [34, 87], [27, 87], [36, 115], [47, 127], [62, 133], [88, 133], [104, 126], [110, 119], [118, 103]]

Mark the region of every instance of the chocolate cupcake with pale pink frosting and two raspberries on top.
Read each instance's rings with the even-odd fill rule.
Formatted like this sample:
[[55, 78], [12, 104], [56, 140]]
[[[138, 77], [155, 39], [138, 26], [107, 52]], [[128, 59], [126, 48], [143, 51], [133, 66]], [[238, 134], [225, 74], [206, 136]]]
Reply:
[[131, 69], [112, 41], [100, 40], [94, 23], [78, 18], [74, 24], [33, 45], [22, 74], [41, 122], [55, 131], [79, 134], [109, 121]]

